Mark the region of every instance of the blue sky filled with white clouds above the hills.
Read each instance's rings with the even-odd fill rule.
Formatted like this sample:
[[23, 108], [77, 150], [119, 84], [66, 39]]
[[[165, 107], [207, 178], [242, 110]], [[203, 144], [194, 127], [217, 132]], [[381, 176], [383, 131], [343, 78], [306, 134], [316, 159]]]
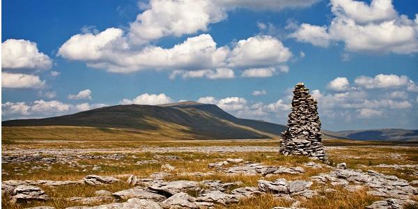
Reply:
[[323, 129], [418, 129], [418, 1], [2, 1], [1, 118], [192, 100]]

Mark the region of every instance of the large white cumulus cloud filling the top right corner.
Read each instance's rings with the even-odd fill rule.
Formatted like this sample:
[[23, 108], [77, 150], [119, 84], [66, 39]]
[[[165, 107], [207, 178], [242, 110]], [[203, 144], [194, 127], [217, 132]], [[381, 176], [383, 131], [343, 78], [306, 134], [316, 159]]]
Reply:
[[328, 26], [301, 24], [291, 34], [300, 42], [328, 47], [344, 42], [348, 51], [412, 54], [418, 52], [418, 15], [398, 15], [392, 0], [331, 0], [336, 17]]

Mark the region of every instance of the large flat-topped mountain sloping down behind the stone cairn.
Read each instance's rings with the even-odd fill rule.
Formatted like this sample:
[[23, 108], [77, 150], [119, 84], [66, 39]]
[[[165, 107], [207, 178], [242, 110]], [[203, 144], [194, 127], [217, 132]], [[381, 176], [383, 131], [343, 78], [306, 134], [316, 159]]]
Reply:
[[[236, 118], [215, 104], [179, 102], [154, 105], [116, 105], [52, 118], [3, 121], [2, 126], [111, 127], [134, 131], [170, 130], [185, 139], [277, 138], [284, 125]], [[183, 136], [183, 135], [181, 135]]]

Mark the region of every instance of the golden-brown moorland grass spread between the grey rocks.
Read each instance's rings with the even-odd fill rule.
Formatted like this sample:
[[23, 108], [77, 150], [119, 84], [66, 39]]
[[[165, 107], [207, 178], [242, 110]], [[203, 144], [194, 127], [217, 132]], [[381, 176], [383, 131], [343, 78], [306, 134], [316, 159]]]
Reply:
[[[89, 137], [90, 136], [90, 137]], [[56, 208], [65, 208], [69, 206], [79, 206], [79, 203], [68, 201], [66, 198], [72, 196], [94, 196], [94, 192], [99, 189], [106, 189], [111, 192], [127, 189], [132, 186], [125, 183], [126, 175], [133, 174], [139, 178], [146, 178], [151, 173], [162, 171], [163, 164], [171, 164], [176, 167], [169, 171], [172, 175], [167, 176], [166, 180], [222, 180], [224, 183], [241, 181], [242, 186], [256, 186], [257, 180], [274, 180], [277, 178], [286, 178], [287, 180], [307, 180], [310, 176], [318, 173], [326, 173], [330, 169], [310, 169], [305, 168], [305, 173], [301, 174], [274, 174], [269, 177], [264, 176], [231, 176], [216, 169], [208, 168], [208, 164], [219, 162], [227, 158], [242, 158], [245, 161], [258, 162], [268, 165], [283, 165], [286, 167], [300, 167], [304, 162], [309, 162], [307, 157], [284, 156], [274, 152], [166, 152], [153, 153], [155, 147], [213, 147], [213, 146], [264, 146], [278, 147], [277, 139], [254, 139], [254, 140], [185, 140], [178, 141], [173, 137], [161, 137], [152, 139], [144, 137], [146, 133], [129, 132], [128, 130], [86, 128], [86, 127], [13, 127], [3, 128], [2, 150], [3, 156], [15, 155], [18, 150], [24, 150], [28, 153], [33, 149], [88, 149], [100, 148], [103, 152], [84, 153], [89, 156], [109, 155], [116, 150], [127, 150], [121, 160], [111, 159], [79, 159], [79, 153], [70, 154], [45, 154], [43, 157], [65, 157], [69, 158], [72, 164], [44, 162], [24, 162], [24, 163], [2, 163], [2, 180], [79, 180], [90, 174], [100, 176], [116, 176], [123, 181], [111, 185], [90, 186], [90, 185], [68, 185], [60, 187], [42, 186], [45, 192], [53, 198], [46, 202], [33, 201], [22, 205], [10, 203], [9, 196], [2, 196], [2, 208], [27, 208], [31, 206], [54, 206]], [[399, 144], [376, 142], [376, 141], [350, 141], [340, 139], [325, 139], [324, 144], [327, 147], [330, 162], [332, 164], [346, 162], [352, 169], [362, 169], [367, 171], [373, 169], [385, 174], [390, 174], [403, 178], [405, 180], [418, 180], [416, 171], [411, 169], [394, 169], [376, 167], [378, 164], [418, 164], [418, 148], [414, 144], [408, 146], [399, 146]], [[403, 144], [404, 145], [404, 144]], [[136, 148], [149, 146], [149, 152], [130, 152]], [[175, 156], [175, 157], [173, 157]], [[155, 163], [139, 165], [137, 162], [144, 160], [157, 160]], [[100, 170], [94, 170], [93, 166], [99, 166]], [[196, 177], [192, 175], [178, 175], [178, 173], [209, 172], [212, 175]], [[314, 184], [314, 189], [323, 191], [325, 187]], [[314, 199], [301, 201], [301, 207], [305, 208], [364, 208], [373, 201], [379, 200], [376, 196], [366, 194], [367, 188], [360, 192], [346, 192], [341, 187], [333, 187], [336, 192], [321, 193], [323, 197], [317, 196]], [[325, 198], [324, 198], [325, 196]], [[417, 199], [417, 197], [413, 197]], [[103, 203], [107, 203], [104, 201]], [[96, 203], [95, 205], [97, 205]], [[217, 209], [224, 208], [261, 208], [270, 209], [274, 206], [290, 206], [291, 202], [285, 199], [278, 199], [271, 194], [256, 196], [245, 199], [237, 204], [229, 206], [216, 206]]]

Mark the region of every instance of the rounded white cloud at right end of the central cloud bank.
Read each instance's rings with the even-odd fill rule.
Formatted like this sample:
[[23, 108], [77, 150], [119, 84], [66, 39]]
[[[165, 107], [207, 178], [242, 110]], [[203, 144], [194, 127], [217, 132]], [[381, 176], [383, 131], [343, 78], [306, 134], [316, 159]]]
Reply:
[[229, 57], [229, 65], [265, 66], [278, 65], [291, 59], [292, 52], [272, 36], [254, 36], [237, 42]]

